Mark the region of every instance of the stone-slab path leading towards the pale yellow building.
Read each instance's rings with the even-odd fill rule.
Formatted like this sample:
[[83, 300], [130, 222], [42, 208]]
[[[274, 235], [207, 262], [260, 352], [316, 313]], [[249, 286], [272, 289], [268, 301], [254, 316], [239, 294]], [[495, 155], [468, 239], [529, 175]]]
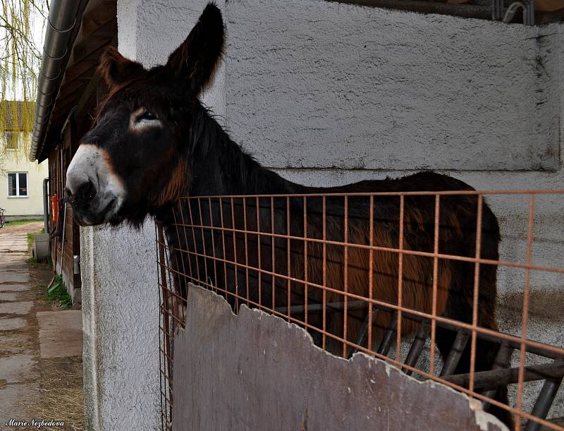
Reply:
[[39, 397], [42, 358], [82, 355], [80, 310], [51, 311], [34, 302], [28, 257], [25, 233], [0, 230], [0, 430], [30, 429], [6, 426], [11, 419], [56, 420], [30, 411]]

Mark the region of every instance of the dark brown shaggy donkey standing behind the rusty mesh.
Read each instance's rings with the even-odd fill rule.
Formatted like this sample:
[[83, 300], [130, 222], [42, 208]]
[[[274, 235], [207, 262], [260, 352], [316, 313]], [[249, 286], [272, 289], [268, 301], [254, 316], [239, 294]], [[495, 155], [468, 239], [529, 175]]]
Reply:
[[[173, 51], [164, 66], [147, 70], [140, 63], [125, 59], [114, 48], [106, 50], [99, 73], [109, 92], [99, 105], [94, 126], [82, 138], [66, 176], [66, 193], [75, 219], [82, 226], [128, 223], [138, 227], [147, 215], [155, 217], [165, 226], [175, 274], [186, 274], [187, 268], [192, 268], [188, 276], [174, 280], [183, 297], [186, 283], [192, 279], [209, 286], [224, 286], [226, 298], [234, 308], [246, 301], [251, 305], [269, 304], [272, 308], [289, 310], [290, 302], [304, 305], [306, 301], [309, 304], [319, 304], [322, 300], [326, 303], [343, 301], [340, 292], [345, 290], [367, 297], [372, 275], [373, 298], [397, 304], [397, 253], [386, 250], [371, 253], [367, 248], [355, 247], [345, 252], [340, 245], [332, 243], [324, 248], [319, 242], [308, 243], [305, 247], [304, 241], [296, 238], [306, 235], [321, 238], [324, 232], [324, 238], [331, 241], [346, 238], [349, 243], [397, 248], [400, 198], [376, 196], [371, 210], [366, 196], [351, 196], [345, 201], [334, 195], [323, 200], [319, 194], [473, 189], [455, 178], [433, 172], [341, 187], [312, 188], [264, 169], [231, 140], [198, 99], [214, 79], [224, 42], [221, 12], [208, 4], [188, 38]], [[317, 197], [258, 197], [312, 193], [317, 193]], [[235, 200], [209, 198], [208, 205], [183, 198], [218, 195], [256, 196]], [[476, 195], [468, 193], [441, 196], [439, 253], [474, 257], [479, 205]], [[405, 195], [404, 207], [403, 248], [432, 252], [434, 196]], [[195, 226], [225, 226], [251, 233], [222, 235], [202, 227], [201, 234], [198, 229], [197, 235], [194, 231], [187, 235], [187, 214]], [[370, 214], [373, 214], [372, 224]], [[252, 235], [252, 231], [289, 234], [292, 240]], [[373, 238], [369, 238], [371, 231]], [[485, 202], [480, 240], [481, 256], [498, 260], [498, 222]], [[218, 259], [202, 257], [205, 250], [213, 250]], [[372, 265], [369, 256], [372, 256]], [[240, 265], [245, 264], [265, 272], [242, 269]], [[198, 267], [197, 272], [195, 267]], [[369, 274], [370, 268], [372, 274]], [[496, 271], [495, 265], [479, 268], [478, 324], [489, 329], [497, 328]], [[287, 277], [273, 279], [273, 273]], [[288, 281], [290, 278], [293, 281]], [[308, 289], [303, 282], [300, 284], [300, 280], [305, 279], [331, 286], [333, 290], [322, 293], [322, 289]], [[402, 289], [402, 303], [407, 308], [431, 312], [435, 307], [437, 315], [472, 322], [472, 262], [439, 260], [434, 282], [431, 257], [404, 255]], [[321, 298], [325, 294], [326, 298]], [[326, 336], [320, 336], [318, 330], [322, 327], [326, 334], [341, 337], [339, 340], [328, 336], [325, 346], [339, 352], [343, 349], [343, 338], [355, 339], [365, 316], [365, 310], [355, 310], [350, 316], [327, 313], [324, 323], [321, 317], [314, 315], [302, 315], [302, 319], [308, 321], [309, 318], [307, 329], [317, 344], [325, 344]], [[390, 313], [379, 313], [371, 327], [374, 340], [362, 342], [367, 344], [381, 339], [390, 319]], [[418, 327], [418, 322], [404, 315], [403, 334], [412, 334]], [[436, 328], [441, 355], [448, 354], [454, 339], [455, 332]], [[475, 369], [491, 369], [498, 345], [478, 339], [476, 351]], [[455, 373], [469, 369], [470, 344]], [[499, 388], [495, 398], [507, 403], [507, 388]], [[491, 411], [511, 424], [512, 419], [505, 410], [492, 407]]]

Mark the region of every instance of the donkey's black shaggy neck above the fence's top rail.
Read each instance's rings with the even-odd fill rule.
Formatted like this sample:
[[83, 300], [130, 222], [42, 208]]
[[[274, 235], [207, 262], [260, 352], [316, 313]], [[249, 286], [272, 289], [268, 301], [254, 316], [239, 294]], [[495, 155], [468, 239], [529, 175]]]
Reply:
[[188, 132], [189, 195], [274, 195], [307, 188], [261, 166], [233, 142], [209, 110], [197, 104]]

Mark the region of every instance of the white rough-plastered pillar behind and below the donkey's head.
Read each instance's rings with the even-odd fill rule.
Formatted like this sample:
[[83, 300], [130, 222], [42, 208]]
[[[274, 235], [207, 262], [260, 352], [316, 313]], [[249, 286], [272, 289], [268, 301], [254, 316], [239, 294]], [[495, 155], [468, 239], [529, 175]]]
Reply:
[[[118, 1], [118, 49], [165, 63], [205, 1]], [[223, 68], [204, 101], [223, 114]], [[154, 223], [141, 231], [82, 228], [85, 408], [89, 430], [157, 430], [159, 290]]]

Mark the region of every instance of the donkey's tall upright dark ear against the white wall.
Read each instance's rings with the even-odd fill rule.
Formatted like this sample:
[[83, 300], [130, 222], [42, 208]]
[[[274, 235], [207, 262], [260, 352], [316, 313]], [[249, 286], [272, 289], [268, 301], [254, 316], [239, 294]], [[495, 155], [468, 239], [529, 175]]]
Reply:
[[209, 3], [190, 35], [171, 56], [166, 67], [176, 78], [189, 81], [192, 94], [199, 94], [214, 80], [223, 55], [225, 30], [221, 11]]

